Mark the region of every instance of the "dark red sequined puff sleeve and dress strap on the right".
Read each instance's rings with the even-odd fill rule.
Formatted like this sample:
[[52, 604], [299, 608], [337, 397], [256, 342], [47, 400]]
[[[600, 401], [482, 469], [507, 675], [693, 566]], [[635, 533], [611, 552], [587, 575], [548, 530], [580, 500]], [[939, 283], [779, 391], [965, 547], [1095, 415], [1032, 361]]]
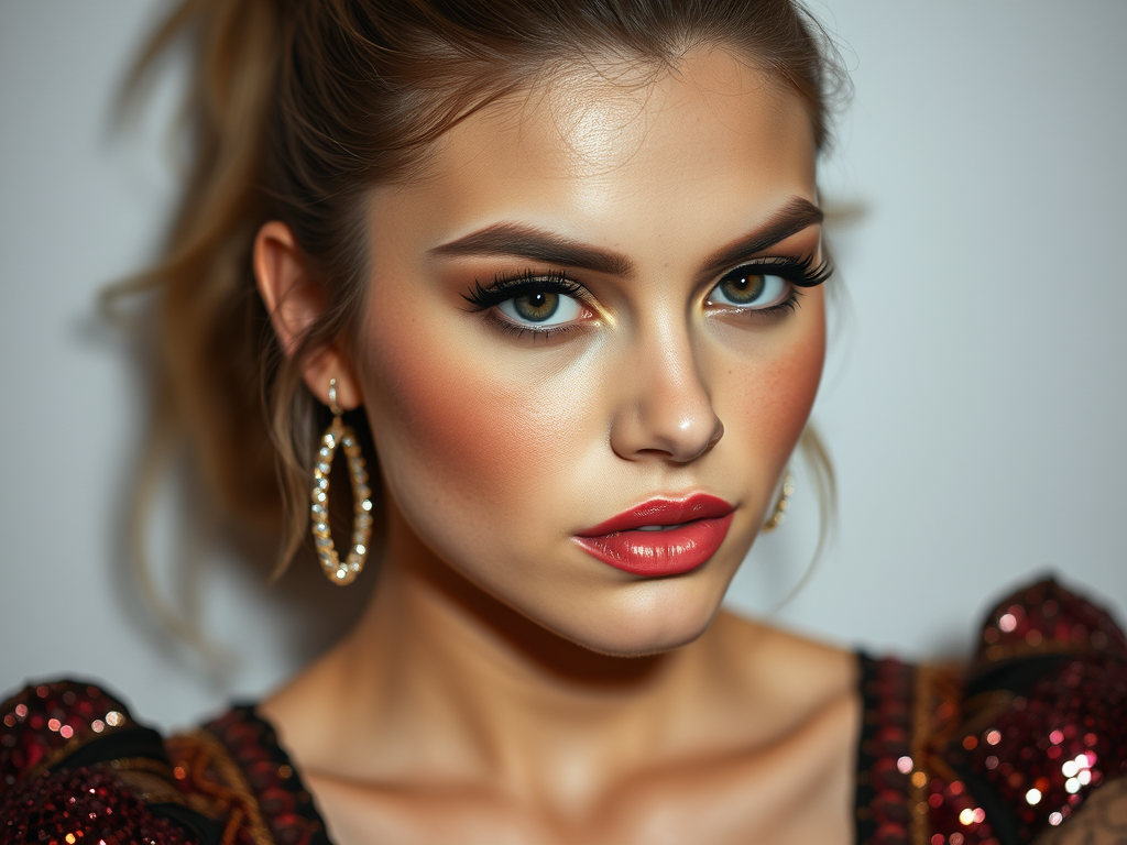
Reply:
[[1093, 602], [1047, 579], [991, 610], [967, 665], [862, 667], [873, 836], [1067, 843], [1097, 794], [1127, 815], [1127, 640]]

